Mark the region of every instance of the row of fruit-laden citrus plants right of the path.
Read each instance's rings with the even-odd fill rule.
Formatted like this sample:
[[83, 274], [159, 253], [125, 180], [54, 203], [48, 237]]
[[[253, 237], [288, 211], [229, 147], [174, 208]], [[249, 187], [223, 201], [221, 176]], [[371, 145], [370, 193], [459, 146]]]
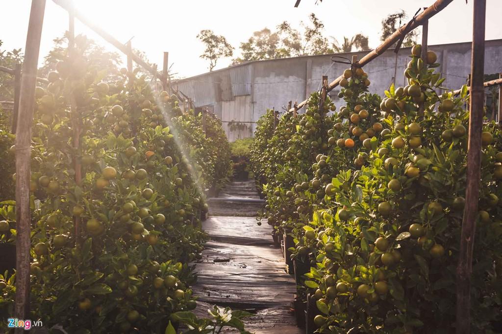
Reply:
[[[417, 45], [408, 85], [382, 97], [352, 67], [339, 110], [314, 93], [305, 113], [269, 110], [258, 122], [250, 160], [267, 202], [262, 217], [295, 271], [309, 333], [455, 331], [468, 90], [454, 96], [441, 87], [436, 55], [420, 55]], [[493, 333], [502, 321], [502, 134], [494, 122], [483, 125], [481, 156], [472, 330]]]

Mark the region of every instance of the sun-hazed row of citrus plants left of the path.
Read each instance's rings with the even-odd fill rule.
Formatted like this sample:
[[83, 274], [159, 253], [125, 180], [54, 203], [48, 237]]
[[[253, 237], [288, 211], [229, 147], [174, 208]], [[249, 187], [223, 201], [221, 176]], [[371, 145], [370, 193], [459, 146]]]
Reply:
[[[190, 312], [205, 194], [231, 172], [221, 122], [183, 112], [175, 95], [154, 91], [137, 71], [100, 68], [87, 57], [86, 39], [75, 42], [71, 56], [52, 55], [49, 84], [36, 88], [28, 317], [69, 333], [173, 334], [180, 322], [187, 332], [213, 332], [222, 322], [242, 329], [242, 312], [229, 322], [228, 309], [215, 307], [211, 319]], [[15, 136], [0, 137], [14, 161]], [[10, 256], [15, 204], [0, 203], [0, 246]], [[0, 274], [5, 328], [16, 275]]]

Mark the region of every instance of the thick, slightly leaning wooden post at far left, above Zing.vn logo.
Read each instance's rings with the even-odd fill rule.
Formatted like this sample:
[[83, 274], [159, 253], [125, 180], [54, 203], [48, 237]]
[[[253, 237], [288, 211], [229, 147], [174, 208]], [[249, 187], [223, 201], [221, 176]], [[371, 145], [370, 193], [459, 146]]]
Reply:
[[[16, 304], [14, 316], [26, 319], [30, 309], [30, 174], [31, 125], [35, 106], [35, 85], [44, 23], [45, 0], [32, 0], [26, 37], [25, 59], [19, 97], [19, 119], [16, 129]], [[21, 334], [23, 328], [16, 328]]]

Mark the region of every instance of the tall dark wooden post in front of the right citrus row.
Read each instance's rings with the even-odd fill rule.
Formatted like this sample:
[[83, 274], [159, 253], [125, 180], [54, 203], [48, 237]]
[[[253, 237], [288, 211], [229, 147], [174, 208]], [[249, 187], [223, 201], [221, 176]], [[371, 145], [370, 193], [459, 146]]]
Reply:
[[470, 282], [472, 275], [472, 251], [479, 201], [481, 177], [481, 129], [484, 107], [484, 33], [486, 0], [474, 0], [472, 33], [469, 141], [467, 145], [467, 182], [465, 207], [460, 237], [457, 266], [456, 333], [470, 333]]

